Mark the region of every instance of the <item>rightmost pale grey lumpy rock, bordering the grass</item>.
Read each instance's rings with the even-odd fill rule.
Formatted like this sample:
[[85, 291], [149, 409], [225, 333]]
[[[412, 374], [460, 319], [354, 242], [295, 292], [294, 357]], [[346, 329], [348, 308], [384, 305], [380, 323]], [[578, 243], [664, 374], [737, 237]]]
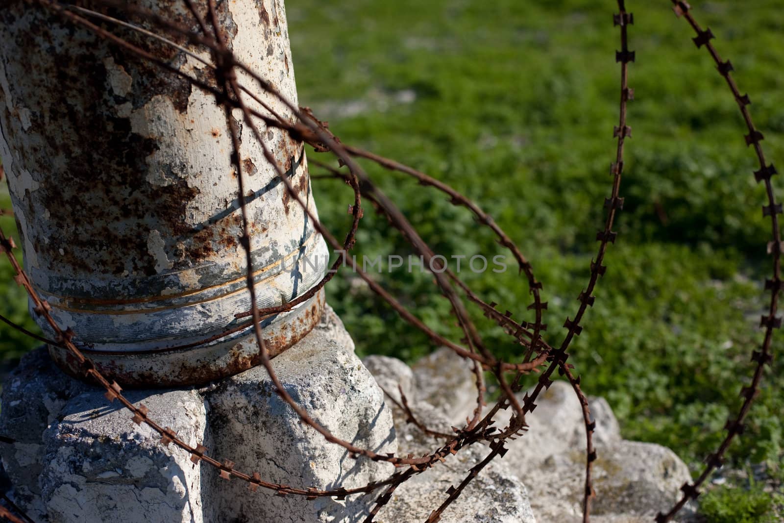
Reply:
[[[522, 394], [518, 397], [522, 399]], [[586, 436], [583, 411], [572, 386], [556, 380], [528, 413], [528, 431], [509, 446], [504, 460], [524, 481], [539, 523], [582, 521], [585, 488]], [[607, 401], [592, 398], [591, 416], [596, 421], [593, 445], [593, 499], [591, 521], [636, 523], [652, 521], [679, 496], [679, 488], [691, 476], [674, 452], [661, 445], [625, 441]], [[509, 411], [499, 415], [499, 425]], [[690, 517], [688, 510], [681, 514]]]

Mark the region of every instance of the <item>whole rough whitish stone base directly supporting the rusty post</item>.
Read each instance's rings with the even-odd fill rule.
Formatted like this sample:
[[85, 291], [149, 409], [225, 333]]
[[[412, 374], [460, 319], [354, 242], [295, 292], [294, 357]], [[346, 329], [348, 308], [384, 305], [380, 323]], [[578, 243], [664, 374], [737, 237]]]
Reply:
[[[274, 368], [300, 405], [340, 438], [397, 452], [390, 409], [354, 343], [332, 309], [285, 353]], [[387, 478], [387, 463], [351, 459], [299, 423], [274, 394], [263, 368], [203, 388], [132, 390], [150, 416], [191, 445], [203, 442], [216, 459], [238, 470], [292, 486], [330, 488]], [[44, 349], [27, 355], [5, 380], [0, 445], [16, 503], [39, 523], [149, 523], [212, 521], [357, 521], [373, 496], [293, 499], [250, 492], [225, 481], [187, 452], [163, 447], [148, 427], [137, 427], [103, 390], [65, 376]]]

